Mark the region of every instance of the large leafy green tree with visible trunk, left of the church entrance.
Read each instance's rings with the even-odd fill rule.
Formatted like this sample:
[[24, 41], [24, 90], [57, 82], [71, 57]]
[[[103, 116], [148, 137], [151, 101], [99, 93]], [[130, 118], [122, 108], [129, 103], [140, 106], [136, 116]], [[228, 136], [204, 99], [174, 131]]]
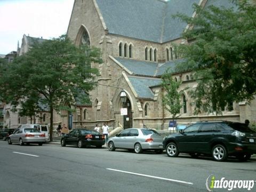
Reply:
[[74, 98], [93, 89], [98, 69], [91, 68], [91, 63], [101, 63], [100, 57], [99, 49], [77, 47], [66, 36], [35, 44], [1, 68], [0, 97], [13, 106], [21, 104], [23, 115], [31, 116], [47, 106], [52, 141], [53, 110], [59, 111], [65, 103], [72, 105]]

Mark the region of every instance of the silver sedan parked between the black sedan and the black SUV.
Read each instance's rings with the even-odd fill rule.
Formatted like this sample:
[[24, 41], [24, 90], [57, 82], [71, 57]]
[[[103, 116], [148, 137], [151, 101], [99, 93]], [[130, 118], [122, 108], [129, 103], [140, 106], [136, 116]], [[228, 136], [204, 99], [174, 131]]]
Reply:
[[143, 150], [154, 150], [156, 153], [163, 152], [163, 137], [151, 129], [125, 129], [108, 140], [108, 150], [116, 148], [134, 150], [142, 153]]

